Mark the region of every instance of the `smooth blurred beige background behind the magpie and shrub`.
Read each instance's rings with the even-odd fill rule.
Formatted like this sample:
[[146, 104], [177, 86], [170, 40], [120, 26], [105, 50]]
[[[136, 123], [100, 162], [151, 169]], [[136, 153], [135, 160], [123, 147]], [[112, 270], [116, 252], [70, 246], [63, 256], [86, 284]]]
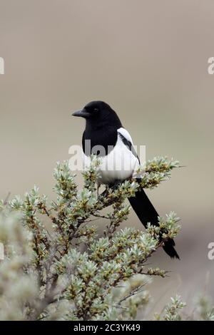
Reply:
[[[213, 38], [212, 0], [0, 0], [1, 198], [34, 184], [53, 194], [56, 160], [81, 143], [71, 111], [90, 100], [112, 105], [146, 158], [186, 165], [149, 192], [183, 225], [181, 260], [153, 258], [172, 271], [153, 281], [153, 311], [177, 292], [189, 309], [199, 292], [214, 295]], [[134, 214], [125, 225], [141, 227]]]

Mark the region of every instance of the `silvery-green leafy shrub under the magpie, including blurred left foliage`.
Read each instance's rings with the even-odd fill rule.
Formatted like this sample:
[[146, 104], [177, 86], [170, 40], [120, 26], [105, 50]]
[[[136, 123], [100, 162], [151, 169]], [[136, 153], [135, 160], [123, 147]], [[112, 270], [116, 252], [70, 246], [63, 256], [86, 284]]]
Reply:
[[[83, 172], [78, 190], [68, 162], [54, 170], [56, 201], [49, 202], [34, 187], [23, 198], [0, 202], [0, 319], [120, 320], [141, 317], [148, 304], [145, 288], [165, 271], [148, 267], [147, 260], [168, 238], [178, 234], [178, 217], [159, 217], [159, 227], [121, 230], [128, 218], [127, 197], [156, 187], [170, 177], [178, 162], [155, 158], [130, 179], [98, 195], [99, 160]], [[103, 210], [108, 207], [108, 213]], [[106, 212], [106, 211], [104, 211]], [[94, 220], [107, 219], [103, 236]], [[100, 231], [99, 231], [100, 234]], [[161, 237], [161, 238], [160, 238]], [[176, 319], [172, 301], [165, 319]]]

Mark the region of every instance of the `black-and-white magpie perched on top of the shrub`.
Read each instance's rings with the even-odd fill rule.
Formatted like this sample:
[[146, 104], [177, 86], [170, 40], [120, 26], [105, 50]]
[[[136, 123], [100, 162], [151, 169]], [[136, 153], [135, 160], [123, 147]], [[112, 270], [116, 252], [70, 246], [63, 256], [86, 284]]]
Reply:
[[[133, 149], [131, 135], [123, 128], [111, 106], [103, 101], [92, 101], [83, 109], [74, 112], [73, 116], [86, 119], [82, 137], [85, 166], [90, 164], [91, 154], [101, 158], [98, 184], [113, 186], [132, 177], [140, 166], [140, 161]], [[143, 189], [138, 190], [135, 197], [129, 197], [128, 200], [144, 227], [147, 227], [148, 222], [158, 225], [158, 213]], [[171, 258], [179, 259], [174, 246], [173, 239], [168, 239], [163, 249]]]

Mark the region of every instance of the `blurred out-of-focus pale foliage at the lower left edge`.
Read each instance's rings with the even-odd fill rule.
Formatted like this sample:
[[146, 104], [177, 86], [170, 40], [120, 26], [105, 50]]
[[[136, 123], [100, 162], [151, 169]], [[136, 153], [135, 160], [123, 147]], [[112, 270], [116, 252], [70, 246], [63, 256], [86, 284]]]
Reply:
[[0, 261], [0, 319], [28, 319], [39, 294], [31, 267], [33, 235], [20, 224], [20, 215], [7, 213], [1, 213], [0, 232], [5, 257]]

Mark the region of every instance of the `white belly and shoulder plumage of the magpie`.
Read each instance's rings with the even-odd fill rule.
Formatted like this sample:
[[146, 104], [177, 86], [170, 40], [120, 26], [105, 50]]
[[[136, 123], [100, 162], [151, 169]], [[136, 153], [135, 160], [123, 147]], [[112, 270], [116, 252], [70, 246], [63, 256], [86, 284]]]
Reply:
[[[118, 129], [132, 144], [131, 136], [124, 128]], [[83, 165], [85, 168], [91, 163], [91, 158], [83, 154]], [[133, 175], [139, 167], [138, 158], [124, 145], [123, 140], [118, 135], [118, 140], [111, 152], [101, 158], [101, 165], [99, 165], [99, 180], [100, 184], [113, 184], [117, 180], [123, 181]]]

